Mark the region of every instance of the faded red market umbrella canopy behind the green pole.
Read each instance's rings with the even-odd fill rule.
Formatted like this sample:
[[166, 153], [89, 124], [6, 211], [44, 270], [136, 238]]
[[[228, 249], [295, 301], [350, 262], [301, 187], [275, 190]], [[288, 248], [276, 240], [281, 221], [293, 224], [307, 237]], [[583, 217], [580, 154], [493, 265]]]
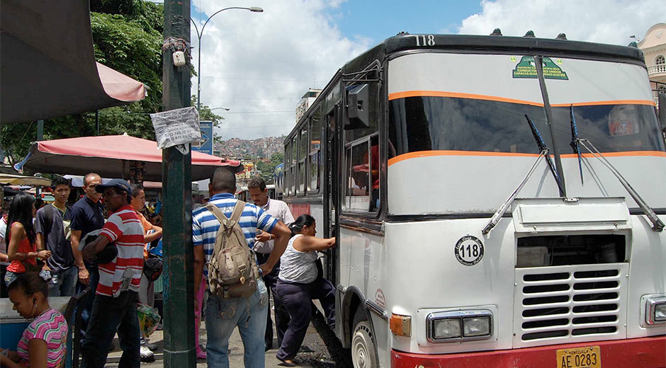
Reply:
[[[103, 178], [130, 177], [134, 162], [145, 164], [143, 180], [162, 181], [162, 150], [147, 139], [123, 135], [53, 139], [33, 143], [25, 168], [40, 173], [85, 175], [94, 172]], [[215, 168], [227, 166], [243, 171], [239, 161], [192, 151], [192, 178], [210, 178]]]

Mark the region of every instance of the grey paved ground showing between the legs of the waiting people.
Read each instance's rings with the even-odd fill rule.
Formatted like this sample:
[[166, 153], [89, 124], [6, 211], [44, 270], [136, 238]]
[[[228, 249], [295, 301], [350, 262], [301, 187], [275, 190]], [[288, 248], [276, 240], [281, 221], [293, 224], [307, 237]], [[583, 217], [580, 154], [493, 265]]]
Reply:
[[[202, 345], [205, 346], [205, 323], [202, 323], [199, 334], [199, 341]], [[155, 352], [157, 360], [152, 363], [142, 363], [142, 368], [162, 367], [162, 349], [164, 347], [162, 341], [163, 336], [164, 331], [162, 330], [155, 331], [155, 333], [150, 336], [150, 342], [159, 345], [159, 349]], [[114, 344], [116, 350], [109, 354], [109, 363], [106, 364], [106, 367], [109, 368], [118, 367], [118, 359], [120, 358], [121, 354], [120, 349], [118, 348], [117, 339], [114, 340]], [[277, 360], [275, 357], [275, 353], [277, 352], [277, 344], [277, 339], [274, 339], [273, 349], [266, 352], [266, 368], [283, 367], [283, 365], [281, 365], [282, 362]], [[230, 367], [243, 367], [243, 343], [240, 339], [238, 330], [235, 330], [231, 336], [229, 345]], [[346, 368], [351, 367], [351, 362], [346, 356], [347, 354], [348, 352], [342, 349], [342, 345], [340, 345], [333, 331], [327, 328], [322, 315], [317, 313], [317, 315], [312, 318], [310, 328], [308, 328], [307, 335], [305, 335], [303, 347], [301, 348], [301, 352], [299, 352], [296, 356], [295, 362], [298, 363], [300, 367]], [[205, 360], [198, 360], [196, 365], [198, 368], [205, 368]]]

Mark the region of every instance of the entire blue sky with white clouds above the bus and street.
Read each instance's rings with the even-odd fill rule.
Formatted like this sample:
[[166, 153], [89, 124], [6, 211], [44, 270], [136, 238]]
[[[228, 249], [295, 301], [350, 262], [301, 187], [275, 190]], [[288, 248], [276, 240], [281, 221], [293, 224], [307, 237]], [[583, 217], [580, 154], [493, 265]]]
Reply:
[[[254, 139], [288, 134], [307, 88], [322, 88], [342, 65], [400, 31], [554, 38], [627, 45], [666, 22], [663, 0], [192, 0], [201, 39], [201, 101], [225, 121], [218, 134]], [[192, 27], [192, 45], [197, 35]], [[197, 65], [199, 50], [193, 50]], [[196, 77], [192, 93], [196, 94]]]

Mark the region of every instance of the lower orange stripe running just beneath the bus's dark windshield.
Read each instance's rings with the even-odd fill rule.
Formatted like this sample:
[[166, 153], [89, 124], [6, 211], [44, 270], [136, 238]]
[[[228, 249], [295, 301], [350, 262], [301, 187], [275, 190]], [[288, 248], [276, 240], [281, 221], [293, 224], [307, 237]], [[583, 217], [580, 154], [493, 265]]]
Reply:
[[[626, 152], [607, 152], [602, 153], [604, 157], [631, 157], [631, 156], [658, 156], [665, 157], [666, 152], [662, 151], [626, 151]], [[538, 154], [518, 154], [513, 152], [487, 152], [487, 151], [416, 151], [408, 154], [401, 154], [388, 160], [388, 166], [405, 161], [409, 159], [416, 159], [417, 157], [430, 157], [430, 156], [495, 156], [495, 157], [537, 157]], [[585, 158], [594, 158], [592, 154], [581, 154]], [[574, 159], [576, 154], [563, 154], [564, 159]]]

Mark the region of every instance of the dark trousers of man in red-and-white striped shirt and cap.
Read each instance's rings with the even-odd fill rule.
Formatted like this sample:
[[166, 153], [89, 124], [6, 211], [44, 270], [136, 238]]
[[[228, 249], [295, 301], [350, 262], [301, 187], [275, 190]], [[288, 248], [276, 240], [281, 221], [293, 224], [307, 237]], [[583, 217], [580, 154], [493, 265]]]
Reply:
[[139, 368], [141, 364], [137, 292], [121, 292], [118, 297], [96, 295], [93, 310], [81, 345], [81, 368], [102, 368], [106, 364], [108, 347], [118, 332], [120, 357], [118, 367]]

